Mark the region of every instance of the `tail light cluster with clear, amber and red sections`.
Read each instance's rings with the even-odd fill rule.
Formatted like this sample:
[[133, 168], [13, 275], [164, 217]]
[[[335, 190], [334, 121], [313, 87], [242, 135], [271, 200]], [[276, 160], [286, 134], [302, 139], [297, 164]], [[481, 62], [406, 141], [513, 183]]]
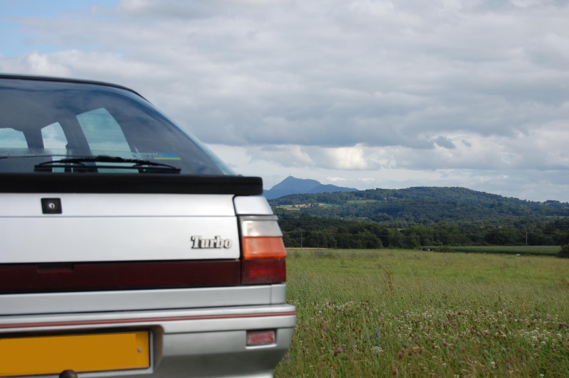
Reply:
[[287, 279], [287, 251], [277, 217], [240, 217], [241, 284], [280, 284]]

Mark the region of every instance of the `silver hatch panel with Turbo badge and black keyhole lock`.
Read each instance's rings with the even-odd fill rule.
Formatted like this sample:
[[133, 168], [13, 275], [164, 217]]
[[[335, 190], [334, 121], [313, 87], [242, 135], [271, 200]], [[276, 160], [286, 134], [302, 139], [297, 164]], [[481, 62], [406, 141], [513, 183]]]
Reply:
[[[41, 198], [60, 199], [62, 214], [42, 214]], [[7, 193], [0, 207], [0, 264], [237, 259], [240, 254], [230, 195]], [[33, 230], [33, 237], [22, 238], [23, 229]], [[230, 242], [194, 248], [192, 237]]]

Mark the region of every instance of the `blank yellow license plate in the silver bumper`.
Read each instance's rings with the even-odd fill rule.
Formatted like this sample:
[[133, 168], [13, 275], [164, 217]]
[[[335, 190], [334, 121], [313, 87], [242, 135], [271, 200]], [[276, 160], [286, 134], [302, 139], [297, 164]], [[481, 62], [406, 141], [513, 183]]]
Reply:
[[0, 338], [0, 377], [144, 369], [149, 346], [148, 331]]

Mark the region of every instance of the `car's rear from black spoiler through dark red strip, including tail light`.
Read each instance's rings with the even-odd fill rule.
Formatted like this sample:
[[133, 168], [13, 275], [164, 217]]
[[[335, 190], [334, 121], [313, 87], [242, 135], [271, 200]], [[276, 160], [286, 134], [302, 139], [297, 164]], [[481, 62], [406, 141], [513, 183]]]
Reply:
[[2, 176], [0, 293], [285, 280], [275, 217], [235, 213], [235, 195], [260, 193], [260, 178], [97, 175], [89, 186], [89, 174]]

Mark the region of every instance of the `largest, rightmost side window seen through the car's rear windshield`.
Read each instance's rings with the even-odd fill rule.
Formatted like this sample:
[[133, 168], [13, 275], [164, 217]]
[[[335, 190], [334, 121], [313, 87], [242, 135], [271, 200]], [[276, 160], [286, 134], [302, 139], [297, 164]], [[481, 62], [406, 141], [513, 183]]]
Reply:
[[107, 109], [95, 109], [77, 116], [91, 151], [124, 151], [130, 147], [120, 125]]

